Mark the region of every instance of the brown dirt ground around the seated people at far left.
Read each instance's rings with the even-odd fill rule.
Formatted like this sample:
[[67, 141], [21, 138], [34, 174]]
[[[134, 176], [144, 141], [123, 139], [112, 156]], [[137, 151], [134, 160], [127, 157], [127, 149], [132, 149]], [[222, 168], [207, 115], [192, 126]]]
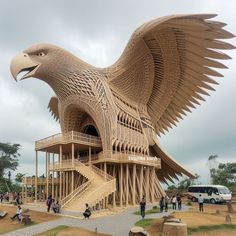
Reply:
[[[24, 208], [22, 209], [24, 210]], [[25, 227], [24, 225], [19, 224], [17, 220], [12, 221], [10, 219], [10, 217], [15, 215], [16, 213], [16, 206], [0, 204], [0, 211], [6, 211], [8, 213], [3, 219], [0, 219], [0, 234]], [[31, 220], [34, 223], [41, 223], [59, 218], [59, 216], [36, 212], [32, 210], [30, 210], [27, 214], [30, 215]]]

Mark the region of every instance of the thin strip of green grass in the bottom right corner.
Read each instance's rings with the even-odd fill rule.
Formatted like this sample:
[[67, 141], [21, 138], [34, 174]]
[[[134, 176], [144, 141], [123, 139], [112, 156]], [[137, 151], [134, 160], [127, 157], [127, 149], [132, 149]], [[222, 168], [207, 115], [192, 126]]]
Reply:
[[224, 230], [224, 229], [236, 230], [236, 224], [202, 225], [199, 227], [188, 227], [188, 235], [197, 232], [206, 233], [213, 230]]

